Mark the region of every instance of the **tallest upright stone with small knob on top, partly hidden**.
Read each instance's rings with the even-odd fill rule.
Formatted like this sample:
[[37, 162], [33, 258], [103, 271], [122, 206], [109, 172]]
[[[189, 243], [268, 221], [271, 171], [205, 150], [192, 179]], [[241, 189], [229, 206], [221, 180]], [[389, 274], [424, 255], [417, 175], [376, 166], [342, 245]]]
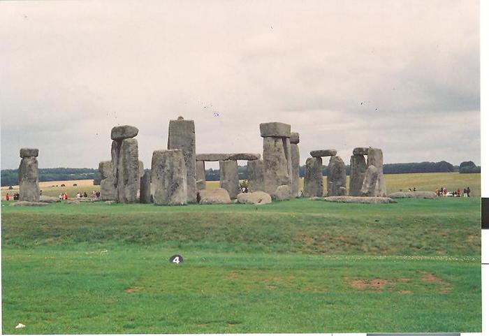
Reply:
[[187, 168], [187, 201], [197, 201], [196, 184], [196, 130], [194, 120], [170, 120], [168, 149], [182, 149]]

